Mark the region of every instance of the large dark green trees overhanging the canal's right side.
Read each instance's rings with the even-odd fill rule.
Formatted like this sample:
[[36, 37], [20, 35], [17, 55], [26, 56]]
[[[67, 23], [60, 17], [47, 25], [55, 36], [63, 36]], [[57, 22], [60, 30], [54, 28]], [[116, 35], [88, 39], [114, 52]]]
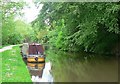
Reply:
[[32, 22], [49, 30], [49, 43], [62, 50], [110, 53], [120, 36], [120, 4], [42, 3]]

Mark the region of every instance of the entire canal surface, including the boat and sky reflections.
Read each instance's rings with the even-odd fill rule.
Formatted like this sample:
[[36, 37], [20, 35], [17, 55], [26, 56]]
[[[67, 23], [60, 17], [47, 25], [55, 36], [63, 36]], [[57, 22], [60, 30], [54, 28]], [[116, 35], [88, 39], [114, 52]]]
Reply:
[[33, 82], [117, 82], [115, 56], [46, 50], [45, 63], [26, 63]]

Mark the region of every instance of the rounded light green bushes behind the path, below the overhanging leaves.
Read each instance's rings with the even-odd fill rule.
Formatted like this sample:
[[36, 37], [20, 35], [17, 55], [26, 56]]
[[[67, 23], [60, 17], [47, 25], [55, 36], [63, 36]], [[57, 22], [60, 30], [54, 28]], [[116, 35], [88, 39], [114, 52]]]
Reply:
[[8, 22], [2, 26], [2, 44], [18, 44], [23, 41], [33, 41], [34, 31], [30, 25], [23, 21], [13, 21], [13, 18], [8, 19]]

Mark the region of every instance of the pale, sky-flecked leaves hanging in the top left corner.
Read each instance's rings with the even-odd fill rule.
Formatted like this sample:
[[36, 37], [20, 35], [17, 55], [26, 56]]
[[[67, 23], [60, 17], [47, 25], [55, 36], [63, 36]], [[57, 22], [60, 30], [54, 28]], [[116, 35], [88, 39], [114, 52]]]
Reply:
[[20, 11], [24, 5], [24, 2], [2, 1], [3, 21], [6, 21], [6, 19], [10, 16], [21, 15]]

